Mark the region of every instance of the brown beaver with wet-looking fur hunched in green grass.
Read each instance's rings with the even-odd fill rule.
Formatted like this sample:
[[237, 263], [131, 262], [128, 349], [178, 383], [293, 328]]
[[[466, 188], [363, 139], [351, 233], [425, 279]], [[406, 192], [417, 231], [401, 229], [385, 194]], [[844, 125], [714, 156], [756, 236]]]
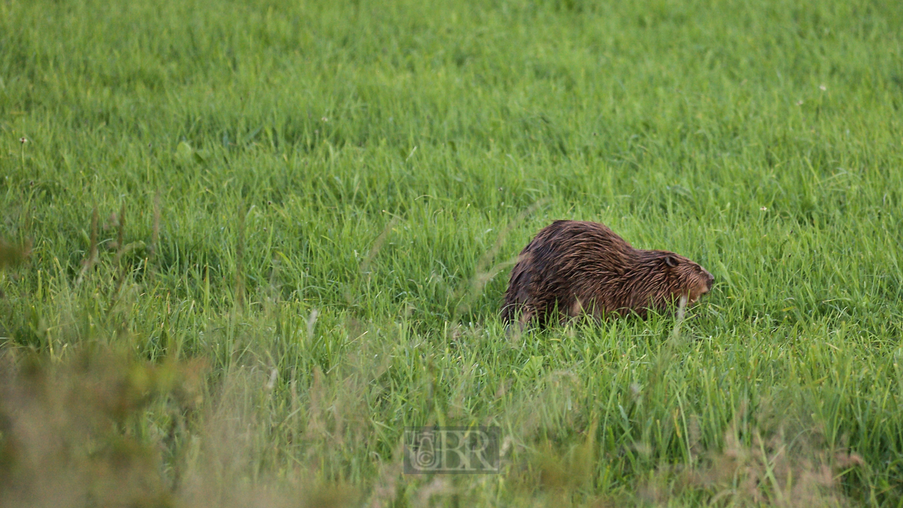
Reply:
[[634, 249], [604, 224], [554, 221], [517, 257], [501, 317], [540, 325], [583, 312], [607, 316], [665, 311], [712, 289], [714, 278], [690, 259], [666, 250]]

